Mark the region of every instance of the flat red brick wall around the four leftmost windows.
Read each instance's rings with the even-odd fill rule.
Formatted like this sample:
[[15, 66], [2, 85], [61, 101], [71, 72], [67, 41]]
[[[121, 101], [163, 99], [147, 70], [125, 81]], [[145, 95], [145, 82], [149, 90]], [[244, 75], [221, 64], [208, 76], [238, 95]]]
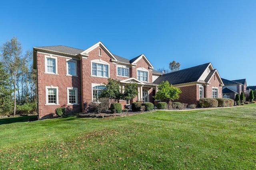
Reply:
[[[45, 74], [45, 54], [37, 53], [37, 69], [38, 69], [38, 111], [39, 117], [55, 116], [57, 107], [66, 107], [66, 113], [80, 112], [81, 100], [78, 97], [78, 105], [67, 106], [67, 87], [78, 88], [78, 96], [81, 96], [80, 88], [80, 61], [77, 60], [78, 76], [66, 76], [66, 57], [57, 57], [58, 75]], [[45, 106], [46, 104], [46, 86], [58, 87], [58, 105]]]

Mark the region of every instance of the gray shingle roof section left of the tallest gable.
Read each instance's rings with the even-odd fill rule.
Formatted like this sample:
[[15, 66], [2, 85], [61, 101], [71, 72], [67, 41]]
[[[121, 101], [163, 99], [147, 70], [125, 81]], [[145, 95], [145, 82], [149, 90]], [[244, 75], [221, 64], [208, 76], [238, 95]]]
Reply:
[[47, 46], [47, 47], [34, 47], [35, 49], [41, 49], [46, 51], [52, 51], [56, 53], [63, 53], [68, 55], [77, 55], [79, 53], [82, 53], [84, 50], [81, 49], [75, 49], [72, 47], [67, 47], [64, 45], [56, 45], [56, 46]]

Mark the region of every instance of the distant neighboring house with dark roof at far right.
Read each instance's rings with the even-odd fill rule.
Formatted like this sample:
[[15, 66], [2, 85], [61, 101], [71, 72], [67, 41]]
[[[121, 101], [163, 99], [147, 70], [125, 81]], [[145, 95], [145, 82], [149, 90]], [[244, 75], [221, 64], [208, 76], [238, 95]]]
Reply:
[[[222, 87], [222, 95], [224, 98], [235, 99], [236, 94], [244, 92], [245, 98], [249, 97], [249, 92], [246, 90], [246, 79], [227, 80], [222, 78], [224, 86]], [[247, 99], [246, 99], [247, 100]]]

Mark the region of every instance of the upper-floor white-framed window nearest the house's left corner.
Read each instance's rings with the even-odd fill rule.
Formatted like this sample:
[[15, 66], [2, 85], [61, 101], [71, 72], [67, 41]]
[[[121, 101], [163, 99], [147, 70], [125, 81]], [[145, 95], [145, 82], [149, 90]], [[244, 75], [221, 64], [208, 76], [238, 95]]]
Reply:
[[52, 55], [45, 55], [44, 59], [45, 73], [58, 74], [57, 57], [52, 57]]

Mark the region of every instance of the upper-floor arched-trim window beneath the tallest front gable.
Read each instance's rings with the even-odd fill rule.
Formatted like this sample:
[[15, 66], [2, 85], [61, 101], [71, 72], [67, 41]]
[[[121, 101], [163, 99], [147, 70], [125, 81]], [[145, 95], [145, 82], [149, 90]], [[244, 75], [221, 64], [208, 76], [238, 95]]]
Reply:
[[97, 77], [109, 77], [109, 64], [105, 61], [100, 60], [92, 60], [92, 76]]

